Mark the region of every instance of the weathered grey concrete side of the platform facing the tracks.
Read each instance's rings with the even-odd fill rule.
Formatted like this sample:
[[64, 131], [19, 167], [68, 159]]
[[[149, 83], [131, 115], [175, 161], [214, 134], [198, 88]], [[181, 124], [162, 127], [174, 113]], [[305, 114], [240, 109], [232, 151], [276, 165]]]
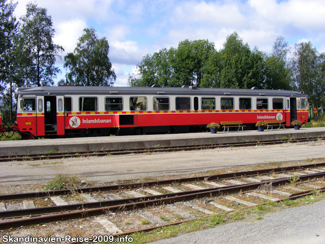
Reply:
[[262, 140], [277, 140], [283, 138], [308, 138], [321, 137], [325, 135], [324, 131], [294, 131], [284, 130], [281, 133], [266, 132], [252, 133], [250, 135], [235, 133], [218, 133], [218, 136], [211, 134], [193, 134], [192, 138], [170, 138], [170, 139], [143, 139], [143, 140], [128, 140], [114, 142], [78, 142], [70, 144], [46, 144], [46, 145], [17, 145], [17, 146], [2, 146], [0, 147], [0, 156], [13, 156], [25, 154], [42, 154], [42, 153], [66, 153], [66, 152], [81, 152], [81, 151], [102, 151], [113, 149], [137, 149], [137, 148], [154, 148], [166, 146], [184, 146], [184, 145], [204, 145], [216, 143], [234, 143], [244, 141], [262, 141]]

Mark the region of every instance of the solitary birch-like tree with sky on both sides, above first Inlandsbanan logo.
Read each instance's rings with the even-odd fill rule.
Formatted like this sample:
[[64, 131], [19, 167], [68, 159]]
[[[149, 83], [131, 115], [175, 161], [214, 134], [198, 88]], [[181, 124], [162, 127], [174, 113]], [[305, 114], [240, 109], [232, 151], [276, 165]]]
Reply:
[[64, 57], [64, 67], [70, 71], [66, 81], [59, 84], [112, 85], [116, 75], [108, 57], [109, 45], [105, 37], [98, 39], [93, 28], [85, 28], [73, 53]]

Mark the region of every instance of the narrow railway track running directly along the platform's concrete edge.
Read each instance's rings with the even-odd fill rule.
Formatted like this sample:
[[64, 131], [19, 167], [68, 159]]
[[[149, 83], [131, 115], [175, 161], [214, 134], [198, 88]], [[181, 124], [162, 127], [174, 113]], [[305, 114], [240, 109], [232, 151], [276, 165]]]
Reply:
[[213, 149], [221, 147], [243, 147], [243, 146], [255, 146], [255, 145], [275, 145], [282, 143], [298, 143], [298, 142], [310, 142], [324, 140], [325, 137], [309, 137], [298, 139], [279, 139], [279, 140], [267, 140], [267, 141], [250, 141], [250, 142], [235, 142], [235, 143], [220, 143], [220, 144], [205, 144], [205, 145], [186, 145], [186, 146], [172, 146], [172, 147], [154, 147], [154, 148], [137, 148], [134, 150], [114, 149], [103, 151], [81, 151], [74, 153], [46, 153], [46, 154], [32, 154], [32, 155], [8, 155], [0, 156], [0, 162], [9, 161], [36, 161], [36, 160], [53, 160], [64, 159], [74, 157], [91, 157], [91, 156], [112, 156], [112, 155], [127, 155], [127, 154], [145, 154], [145, 153], [158, 153], [169, 151], [184, 151], [184, 150], [201, 150], [201, 149]]

